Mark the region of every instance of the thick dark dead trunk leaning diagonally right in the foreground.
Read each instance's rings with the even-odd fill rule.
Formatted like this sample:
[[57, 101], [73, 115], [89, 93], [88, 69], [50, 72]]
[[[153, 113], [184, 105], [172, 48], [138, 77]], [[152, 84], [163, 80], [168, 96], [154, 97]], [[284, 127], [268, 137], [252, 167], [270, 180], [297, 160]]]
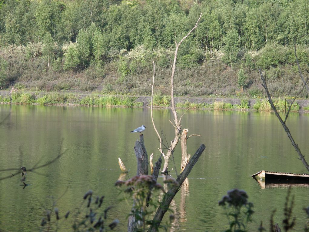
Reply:
[[148, 229], [148, 232], [156, 232], [157, 228], [159, 227], [164, 214], [167, 212], [168, 207], [173, 200], [176, 193], [179, 191], [182, 183], [184, 180], [188, 177], [188, 174], [191, 172], [193, 166], [196, 164], [198, 158], [201, 156], [203, 151], [205, 150], [205, 145], [201, 144], [200, 148], [198, 148], [197, 152], [193, 155], [193, 157], [190, 159], [188, 165], [185, 167], [184, 171], [178, 176], [176, 179], [176, 182], [178, 186], [172, 187], [167, 193], [164, 195], [163, 200], [155, 214], [155, 217], [153, 218], [153, 223], [150, 225], [150, 228]]

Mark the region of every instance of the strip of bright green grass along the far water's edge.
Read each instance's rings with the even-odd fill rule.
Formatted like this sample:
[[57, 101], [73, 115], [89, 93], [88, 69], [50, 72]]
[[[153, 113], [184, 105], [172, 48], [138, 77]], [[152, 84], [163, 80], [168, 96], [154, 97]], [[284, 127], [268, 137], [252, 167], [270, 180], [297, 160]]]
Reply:
[[[125, 106], [125, 107], [142, 107], [143, 102], [136, 101], [137, 97], [127, 96], [113, 96], [113, 95], [90, 95], [86, 97], [78, 97], [73, 93], [61, 94], [61, 93], [49, 93], [41, 97], [35, 97], [35, 95], [22, 92], [11, 91], [11, 96], [0, 95], [0, 102], [2, 103], [18, 103], [18, 104], [64, 104], [64, 105], [89, 105], [89, 106]], [[149, 102], [150, 104], [150, 102]], [[171, 105], [171, 97], [164, 96], [160, 93], [154, 95], [153, 105], [160, 107], [169, 107]], [[274, 100], [274, 105], [278, 111], [284, 111], [289, 107], [289, 102], [282, 99]], [[240, 104], [231, 104], [229, 102], [214, 101], [214, 103], [192, 103], [189, 101], [176, 103], [177, 108], [186, 109], [214, 109], [214, 110], [248, 110], [250, 109], [248, 99], [241, 99]], [[252, 109], [256, 111], [271, 111], [271, 106], [267, 99], [256, 100]], [[294, 103], [291, 107], [292, 111], [298, 111], [300, 106]], [[309, 110], [309, 106], [303, 108]]]

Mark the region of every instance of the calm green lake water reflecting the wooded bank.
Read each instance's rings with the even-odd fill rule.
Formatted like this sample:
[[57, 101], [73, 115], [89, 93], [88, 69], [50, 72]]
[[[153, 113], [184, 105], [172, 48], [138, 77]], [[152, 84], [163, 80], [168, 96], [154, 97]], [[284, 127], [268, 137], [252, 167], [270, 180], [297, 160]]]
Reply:
[[[114, 231], [126, 230], [131, 206], [120, 201], [123, 195], [114, 186], [121, 178], [118, 157], [130, 170], [129, 177], [133, 177], [137, 169], [133, 147], [139, 136], [129, 131], [144, 124], [148, 155], [155, 153], [154, 160], [158, 159], [159, 142], [150, 109], [0, 105], [0, 122], [8, 114], [0, 125], [0, 170], [18, 170], [21, 166], [31, 169], [38, 162], [40, 165], [55, 158], [60, 149], [65, 153], [48, 166], [28, 171], [26, 179], [17, 174], [0, 181], [0, 231], [39, 231], [46, 209], [53, 211], [53, 202], [61, 196], [55, 205], [60, 217], [68, 210], [71, 213], [66, 221], [59, 221], [58, 231], [72, 231], [74, 214], [90, 189], [95, 196], [105, 195], [104, 208], [112, 207], [106, 223], [118, 218], [120, 224]], [[154, 118], [167, 141], [172, 140], [171, 111], [155, 109]], [[247, 191], [254, 204], [250, 231], [257, 231], [261, 220], [268, 230], [274, 209], [274, 221], [281, 226], [287, 187], [261, 188], [251, 175], [260, 170], [306, 173], [306, 169], [275, 115], [188, 110], [182, 125], [189, 128], [188, 135], [201, 135], [188, 140], [188, 152], [194, 154], [201, 143], [206, 149], [170, 205], [176, 217], [170, 231], [227, 230], [228, 221], [218, 201], [233, 188]], [[303, 154], [308, 154], [309, 114], [291, 113], [287, 125]], [[180, 148], [174, 156], [179, 172]], [[0, 178], [13, 172], [1, 171]], [[175, 170], [171, 176], [176, 178]], [[158, 182], [162, 183], [163, 178], [160, 175]], [[23, 182], [28, 186], [23, 188]], [[293, 186], [291, 191], [293, 215], [297, 218], [294, 231], [303, 231], [309, 187]]]

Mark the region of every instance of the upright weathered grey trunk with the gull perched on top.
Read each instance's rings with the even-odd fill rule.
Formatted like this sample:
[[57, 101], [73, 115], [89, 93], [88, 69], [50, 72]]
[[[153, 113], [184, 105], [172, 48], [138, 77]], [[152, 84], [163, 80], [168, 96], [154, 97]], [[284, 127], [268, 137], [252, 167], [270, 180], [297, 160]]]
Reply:
[[[135, 142], [134, 151], [137, 159], [137, 176], [148, 175], [148, 156], [147, 151], [144, 145], [144, 135], [139, 136], [140, 141]], [[133, 232], [138, 229], [138, 225], [141, 224], [141, 221], [138, 221], [134, 215], [136, 212], [135, 201], [132, 206], [133, 215], [129, 216], [128, 219], [128, 232]]]

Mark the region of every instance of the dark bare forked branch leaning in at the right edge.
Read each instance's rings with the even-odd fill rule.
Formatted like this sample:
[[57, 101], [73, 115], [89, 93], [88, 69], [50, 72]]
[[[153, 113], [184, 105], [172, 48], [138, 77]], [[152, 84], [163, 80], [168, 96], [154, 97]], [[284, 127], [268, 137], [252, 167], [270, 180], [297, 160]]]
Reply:
[[[298, 97], [298, 95], [303, 91], [303, 89], [305, 87], [307, 87], [308, 89], [308, 86], [307, 86], [307, 83], [308, 83], [308, 79], [305, 81], [305, 79], [303, 78], [303, 75], [302, 75], [302, 71], [300, 69], [300, 65], [299, 65], [299, 62], [298, 62], [298, 59], [297, 59], [297, 55], [296, 55], [296, 45], [294, 45], [294, 48], [295, 48], [295, 57], [296, 57], [296, 62], [297, 62], [297, 65], [298, 65], [298, 72], [303, 80], [303, 88], [298, 92], [298, 94], [294, 97], [293, 101], [290, 103], [290, 106], [288, 108], [288, 110], [285, 110], [285, 119], [283, 120], [281, 118], [281, 116], [278, 114], [278, 111], [275, 107], [275, 105], [273, 104], [273, 100], [271, 98], [271, 95], [269, 93], [269, 90], [268, 90], [268, 87], [267, 87], [267, 83], [266, 83], [266, 75], [263, 75], [261, 69], [259, 69], [259, 72], [260, 72], [260, 77], [262, 79], [262, 82], [263, 82], [263, 87], [265, 88], [265, 91], [266, 91], [266, 94], [267, 94], [267, 97], [268, 97], [268, 101], [269, 101], [269, 104], [271, 105], [275, 115], [277, 116], [277, 118], [279, 119], [283, 129], [286, 131], [286, 134], [288, 135], [290, 141], [292, 142], [292, 145], [293, 147], [295, 148], [296, 152], [298, 153], [298, 156], [299, 156], [299, 159], [303, 162], [303, 164], [305, 165], [306, 169], [309, 171], [309, 165], [307, 163], [307, 161], [305, 160], [305, 157], [304, 155], [302, 154], [302, 152], [300, 151], [299, 147], [298, 147], [298, 144], [296, 144], [296, 142], [294, 141], [292, 135], [291, 135], [291, 132], [290, 132], [290, 129], [287, 127], [286, 125], [286, 120], [288, 119], [289, 117], [289, 114], [290, 114], [290, 111], [291, 111], [291, 106], [293, 105], [295, 99]], [[309, 89], [308, 89], [309, 90]]]

